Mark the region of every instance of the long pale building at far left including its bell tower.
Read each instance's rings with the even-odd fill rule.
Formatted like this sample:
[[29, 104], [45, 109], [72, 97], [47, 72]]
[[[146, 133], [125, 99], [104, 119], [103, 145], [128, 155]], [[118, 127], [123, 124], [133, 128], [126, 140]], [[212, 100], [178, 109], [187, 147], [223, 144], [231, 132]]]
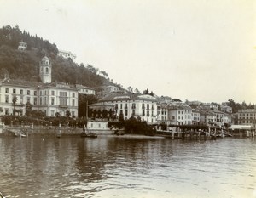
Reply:
[[[32, 110], [42, 110], [46, 116], [59, 113], [65, 116], [67, 110], [71, 116], [78, 116], [78, 90], [63, 83], [51, 83], [51, 65], [44, 57], [40, 63], [42, 82], [26, 82], [12, 79], [0, 81], [0, 107], [4, 115], [25, 115], [26, 104], [32, 105]], [[48, 70], [46, 68], [48, 67]], [[43, 69], [43, 71], [41, 71]], [[14, 97], [16, 101], [14, 104]]]

